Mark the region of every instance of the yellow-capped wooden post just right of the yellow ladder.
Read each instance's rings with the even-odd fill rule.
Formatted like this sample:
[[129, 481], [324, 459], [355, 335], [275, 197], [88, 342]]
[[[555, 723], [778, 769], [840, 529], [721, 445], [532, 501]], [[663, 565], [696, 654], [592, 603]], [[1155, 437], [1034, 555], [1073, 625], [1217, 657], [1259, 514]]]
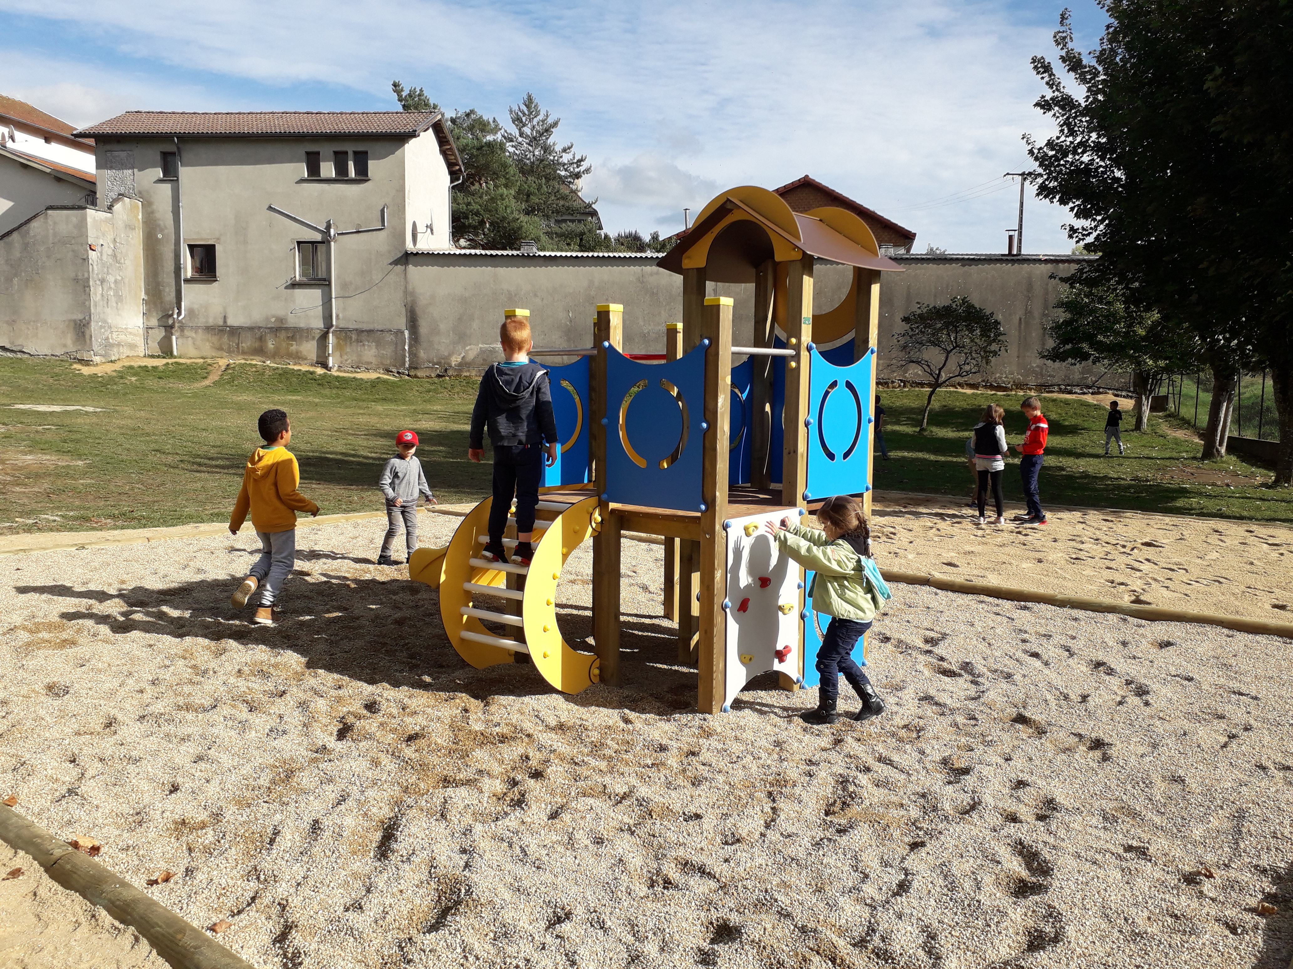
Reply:
[[[617, 411], [606, 388], [606, 350], [623, 346], [625, 307], [618, 302], [597, 306], [597, 323], [592, 340], [597, 348], [588, 373], [588, 448], [596, 456], [593, 477], [599, 495], [606, 494], [606, 438], [609, 429], [601, 419]], [[601, 500], [601, 530], [592, 536], [592, 641], [601, 660], [599, 682], [619, 686], [619, 518], [610, 512], [610, 503]]]

